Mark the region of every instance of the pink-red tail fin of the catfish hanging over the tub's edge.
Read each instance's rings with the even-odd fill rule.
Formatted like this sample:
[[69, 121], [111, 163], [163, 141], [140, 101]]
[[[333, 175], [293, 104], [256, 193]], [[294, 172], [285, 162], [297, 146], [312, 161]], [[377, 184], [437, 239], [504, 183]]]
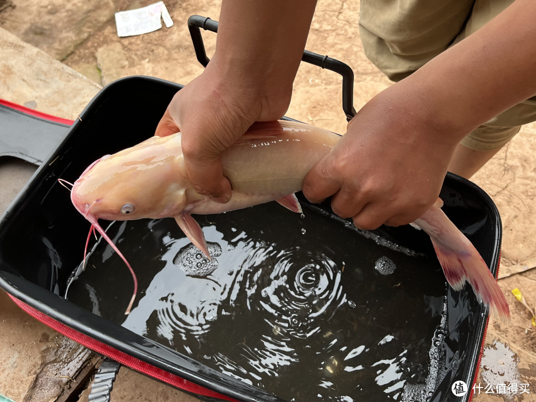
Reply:
[[469, 282], [479, 302], [489, 306], [492, 317], [508, 325], [510, 309], [506, 297], [477, 249], [470, 242], [460, 242], [456, 248], [450, 248], [444, 242], [436, 242], [433, 237], [431, 240], [450, 286], [461, 290], [465, 281]]

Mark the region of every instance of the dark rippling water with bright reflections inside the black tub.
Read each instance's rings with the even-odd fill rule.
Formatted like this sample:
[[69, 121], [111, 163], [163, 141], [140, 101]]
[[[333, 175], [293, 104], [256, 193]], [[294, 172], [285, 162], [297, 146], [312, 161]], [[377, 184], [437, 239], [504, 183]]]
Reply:
[[[306, 208], [307, 206], [304, 206]], [[426, 400], [441, 375], [445, 279], [434, 258], [314, 207], [197, 215], [213, 261], [171, 218], [116, 222], [66, 297], [288, 401]]]

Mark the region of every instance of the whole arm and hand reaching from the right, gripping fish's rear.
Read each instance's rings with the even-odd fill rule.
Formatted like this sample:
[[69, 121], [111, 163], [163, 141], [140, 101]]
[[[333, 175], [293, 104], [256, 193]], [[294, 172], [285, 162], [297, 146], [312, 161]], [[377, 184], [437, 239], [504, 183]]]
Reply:
[[436, 200], [456, 144], [536, 94], [536, 3], [517, 0], [480, 30], [369, 101], [303, 192], [356, 226], [406, 224]]

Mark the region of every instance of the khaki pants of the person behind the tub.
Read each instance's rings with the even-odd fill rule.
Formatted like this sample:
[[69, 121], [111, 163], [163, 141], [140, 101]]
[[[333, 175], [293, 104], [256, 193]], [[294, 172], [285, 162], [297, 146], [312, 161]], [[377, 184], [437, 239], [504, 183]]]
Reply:
[[[513, 0], [361, 0], [363, 49], [389, 79], [400, 81], [511, 3]], [[481, 151], [498, 149], [532, 121], [536, 121], [536, 97], [487, 121], [461, 144]]]

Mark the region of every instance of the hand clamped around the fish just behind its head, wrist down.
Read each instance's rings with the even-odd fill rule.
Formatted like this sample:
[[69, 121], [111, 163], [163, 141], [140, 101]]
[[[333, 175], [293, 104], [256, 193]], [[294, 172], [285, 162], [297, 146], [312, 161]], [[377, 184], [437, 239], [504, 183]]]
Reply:
[[181, 131], [182, 151], [188, 177], [199, 194], [214, 201], [228, 202], [232, 189], [224, 177], [221, 153], [257, 121], [283, 116], [290, 103], [291, 85], [271, 87], [262, 80], [233, 78], [212, 60], [203, 74], [178, 91], [160, 120], [155, 135]]

